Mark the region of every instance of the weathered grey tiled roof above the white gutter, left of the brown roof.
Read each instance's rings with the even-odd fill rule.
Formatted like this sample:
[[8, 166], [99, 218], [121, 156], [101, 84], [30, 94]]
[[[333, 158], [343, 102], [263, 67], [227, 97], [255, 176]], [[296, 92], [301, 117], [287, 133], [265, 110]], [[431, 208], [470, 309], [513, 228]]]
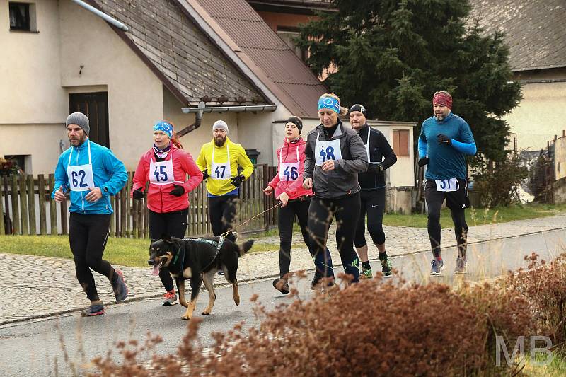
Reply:
[[[91, 0], [128, 25], [117, 33], [184, 104], [270, 103], [174, 0]], [[117, 29], [115, 29], [117, 30]]]

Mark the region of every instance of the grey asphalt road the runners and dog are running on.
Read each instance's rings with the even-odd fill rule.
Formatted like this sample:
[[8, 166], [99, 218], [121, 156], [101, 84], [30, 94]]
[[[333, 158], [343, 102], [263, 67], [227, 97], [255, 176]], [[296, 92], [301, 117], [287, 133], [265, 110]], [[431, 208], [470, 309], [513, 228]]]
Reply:
[[[565, 246], [566, 230], [472, 245], [468, 250], [468, 274], [458, 277], [452, 274], [456, 249], [451, 248], [443, 251], [446, 263], [443, 276], [432, 279], [456, 284], [458, 279], [495, 277], [508, 269], [525, 267], [525, 255], [536, 252], [542, 259], [552, 260], [565, 250]], [[430, 259], [429, 253], [415, 253], [394, 257], [392, 262], [405, 279], [426, 282], [431, 279]], [[308, 281], [299, 282], [301, 296], [311, 295], [308, 284]], [[258, 325], [252, 310], [253, 303], [250, 303], [254, 294], [259, 295], [259, 301], [267, 308], [275, 308], [278, 303], [289, 300], [273, 289], [271, 279], [242, 284], [240, 306], [233, 303], [231, 287], [216, 289], [214, 311], [204, 317], [200, 327], [202, 344], [212, 344], [211, 332], [230, 330], [241, 321], [248, 326]], [[195, 315], [200, 315], [207, 301], [208, 295], [203, 287]], [[58, 318], [1, 326], [1, 376], [69, 376], [74, 374], [71, 365], [82, 374], [88, 370], [85, 368], [88, 361], [115, 349], [115, 342], [131, 339], [143, 342], [147, 332], [163, 337], [164, 341], [156, 352], [173, 353], [186, 331], [187, 321], [180, 320], [184, 308], [179, 305], [163, 307], [160, 303], [161, 300], [152, 299], [106, 306], [106, 314], [95, 318], [81, 318], [79, 313], [69, 313]]]

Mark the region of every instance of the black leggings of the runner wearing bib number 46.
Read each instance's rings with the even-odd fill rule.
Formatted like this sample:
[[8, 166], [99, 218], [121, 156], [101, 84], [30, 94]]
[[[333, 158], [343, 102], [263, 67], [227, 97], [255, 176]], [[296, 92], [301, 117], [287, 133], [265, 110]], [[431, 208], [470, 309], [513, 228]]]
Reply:
[[[289, 200], [285, 207], [277, 208], [277, 227], [279, 228], [279, 276], [284, 277], [289, 273], [289, 265], [291, 265], [291, 243], [293, 241], [293, 221], [295, 215], [299, 220], [301, 227], [301, 234], [308, 249], [311, 250], [310, 243], [308, 242], [308, 207], [311, 204], [311, 199]], [[311, 255], [313, 252], [311, 251]], [[328, 248], [325, 251], [325, 260], [330, 261], [332, 265], [332, 258]]]

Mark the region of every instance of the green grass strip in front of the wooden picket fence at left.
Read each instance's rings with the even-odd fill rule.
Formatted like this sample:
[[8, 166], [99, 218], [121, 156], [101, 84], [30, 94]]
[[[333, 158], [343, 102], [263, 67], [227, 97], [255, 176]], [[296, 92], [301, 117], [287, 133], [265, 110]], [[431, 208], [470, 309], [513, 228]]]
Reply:
[[[279, 244], [255, 243], [250, 253], [279, 250]], [[69, 236], [0, 236], [0, 253], [72, 258]], [[149, 240], [108, 238], [104, 259], [115, 265], [148, 267]]]

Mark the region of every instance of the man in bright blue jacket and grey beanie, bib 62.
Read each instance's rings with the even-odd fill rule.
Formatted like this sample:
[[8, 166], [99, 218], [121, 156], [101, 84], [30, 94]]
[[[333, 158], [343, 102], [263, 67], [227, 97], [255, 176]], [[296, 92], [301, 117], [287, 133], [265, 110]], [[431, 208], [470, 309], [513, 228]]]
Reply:
[[76, 278], [91, 301], [81, 315], [90, 317], [104, 314], [91, 269], [108, 277], [116, 301], [124, 301], [128, 294], [122, 272], [102, 259], [112, 214], [110, 195], [116, 195], [128, 177], [124, 164], [110, 149], [88, 139], [86, 115], [74, 112], [65, 124], [71, 146], [59, 156], [51, 197], [64, 202], [65, 192], [70, 190], [69, 244]]

